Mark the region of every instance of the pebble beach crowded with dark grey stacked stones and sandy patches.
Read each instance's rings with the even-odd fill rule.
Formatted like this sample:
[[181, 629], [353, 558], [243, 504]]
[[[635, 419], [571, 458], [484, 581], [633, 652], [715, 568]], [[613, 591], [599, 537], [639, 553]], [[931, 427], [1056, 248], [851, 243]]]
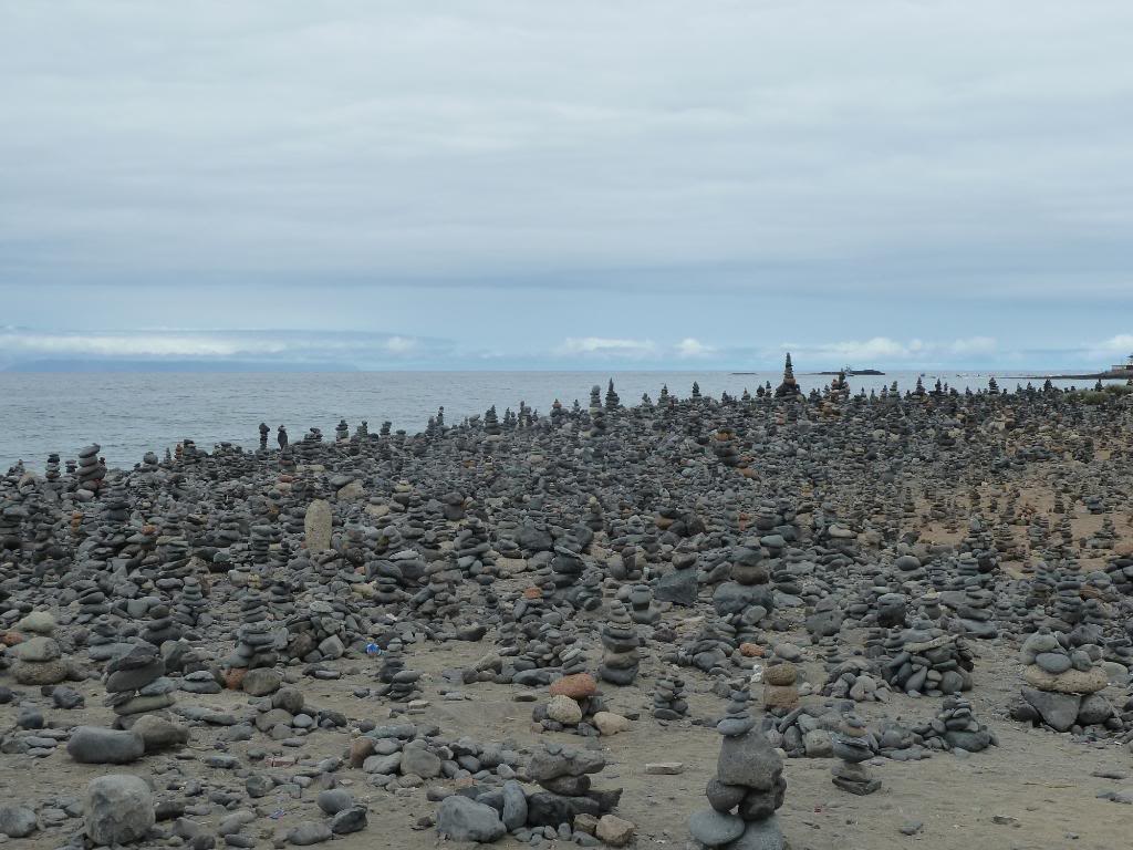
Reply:
[[1133, 394], [776, 377], [12, 466], [0, 841], [1123, 845]]

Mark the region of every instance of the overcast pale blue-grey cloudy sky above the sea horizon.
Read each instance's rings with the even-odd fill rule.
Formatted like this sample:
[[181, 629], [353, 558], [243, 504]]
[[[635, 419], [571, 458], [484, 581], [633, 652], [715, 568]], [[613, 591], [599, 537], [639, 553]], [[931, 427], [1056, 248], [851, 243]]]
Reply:
[[0, 0], [0, 367], [1094, 366], [1128, 0]]

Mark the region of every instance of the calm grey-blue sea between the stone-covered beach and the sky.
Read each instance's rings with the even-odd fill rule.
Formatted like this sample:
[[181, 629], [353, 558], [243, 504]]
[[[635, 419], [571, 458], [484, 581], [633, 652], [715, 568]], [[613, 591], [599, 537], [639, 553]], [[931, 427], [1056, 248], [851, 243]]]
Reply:
[[[911, 389], [920, 373], [891, 372], [884, 377], [850, 379], [853, 391], [864, 386], [879, 390], [897, 381]], [[495, 405], [518, 408], [519, 402], [546, 413], [554, 399], [585, 406], [590, 386], [605, 391], [607, 379], [623, 403], [634, 403], [641, 393], [654, 399], [662, 384], [687, 397], [697, 381], [704, 393], [718, 397], [726, 390], [752, 392], [759, 384], [772, 385], [780, 372], [736, 375], [727, 372], [341, 372], [341, 373], [0, 373], [0, 469], [23, 459], [42, 469], [48, 454], [58, 451], [66, 460], [92, 442], [102, 445], [111, 466], [130, 467], [146, 451], [163, 453], [167, 447], [188, 437], [211, 450], [228, 441], [255, 447], [257, 427], [287, 426], [291, 440], [299, 440], [310, 426], [326, 437], [346, 417], [351, 432], [367, 419], [376, 431], [389, 419], [394, 428], [417, 432], [428, 417], [444, 406], [445, 420], [483, 414]], [[987, 386], [988, 374], [940, 373], [957, 390]], [[830, 379], [798, 374], [803, 390], [821, 388]], [[931, 388], [937, 375], [925, 373]], [[1014, 388], [1014, 381], [999, 379]], [[1066, 385], [1070, 382], [1065, 382]], [[1087, 383], [1087, 382], [1080, 382]]]

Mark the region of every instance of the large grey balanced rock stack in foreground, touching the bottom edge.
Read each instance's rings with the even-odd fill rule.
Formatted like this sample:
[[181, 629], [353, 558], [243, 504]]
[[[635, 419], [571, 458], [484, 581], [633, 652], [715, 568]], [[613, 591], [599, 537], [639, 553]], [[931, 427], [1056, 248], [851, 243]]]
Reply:
[[746, 690], [733, 690], [727, 715], [716, 725], [724, 741], [716, 775], [708, 780], [706, 790], [712, 808], [689, 818], [689, 832], [698, 847], [786, 848], [775, 817], [786, 794], [783, 759], [767, 737], [753, 729], [749, 700]]

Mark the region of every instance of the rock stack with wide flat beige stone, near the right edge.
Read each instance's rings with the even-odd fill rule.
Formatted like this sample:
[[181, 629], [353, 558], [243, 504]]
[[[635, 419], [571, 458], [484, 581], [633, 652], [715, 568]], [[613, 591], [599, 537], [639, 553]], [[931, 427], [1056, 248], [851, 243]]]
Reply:
[[[1091, 648], [1094, 651], [1091, 654]], [[1043, 627], [1023, 641], [1020, 653], [1025, 665], [1022, 702], [1015, 706], [1016, 720], [1042, 722], [1058, 732], [1076, 726], [1106, 723], [1114, 708], [1099, 694], [1108, 683], [1105, 670], [1096, 665], [1100, 648], [1071, 648], [1063, 632]]]

